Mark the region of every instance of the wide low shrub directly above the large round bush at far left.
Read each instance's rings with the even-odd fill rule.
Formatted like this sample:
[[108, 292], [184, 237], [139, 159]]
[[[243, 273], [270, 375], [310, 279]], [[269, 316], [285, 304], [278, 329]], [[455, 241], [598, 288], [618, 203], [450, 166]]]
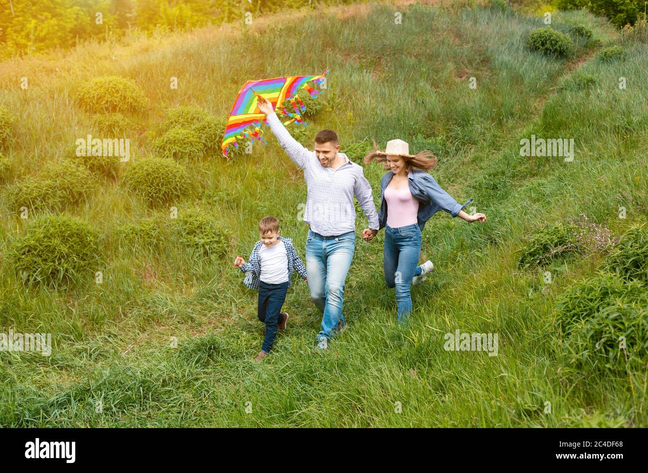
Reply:
[[30, 210], [61, 210], [78, 204], [93, 190], [89, 171], [73, 160], [52, 161], [38, 172], [17, 182], [8, 191], [13, 212], [25, 206]]

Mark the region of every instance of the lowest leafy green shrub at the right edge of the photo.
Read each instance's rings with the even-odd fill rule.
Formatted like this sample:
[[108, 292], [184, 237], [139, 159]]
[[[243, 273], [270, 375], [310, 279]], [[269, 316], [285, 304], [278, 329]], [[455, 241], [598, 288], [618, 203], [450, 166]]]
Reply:
[[648, 361], [648, 306], [612, 301], [577, 322], [562, 346], [578, 367], [640, 370]]

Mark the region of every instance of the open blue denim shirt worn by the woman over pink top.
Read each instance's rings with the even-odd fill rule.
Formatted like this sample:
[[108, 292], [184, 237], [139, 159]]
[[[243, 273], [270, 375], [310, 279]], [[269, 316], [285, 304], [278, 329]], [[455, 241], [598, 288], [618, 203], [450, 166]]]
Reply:
[[[384, 228], [387, 224], [387, 201], [385, 200], [385, 189], [389, 185], [394, 173], [388, 171], [380, 180], [380, 212], [378, 212], [378, 229]], [[472, 199], [461, 205], [454, 200], [450, 194], [441, 189], [432, 175], [421, 171], [420, 169], [411, 169], [407, 175], [411, 195], [419, 200], [419, 212], [417, 213], [417, 222], [421, 232], [426, 221], [439, 210], [445, 210], [452, 217], [456, 217], [459, 210], [467, 206]]]

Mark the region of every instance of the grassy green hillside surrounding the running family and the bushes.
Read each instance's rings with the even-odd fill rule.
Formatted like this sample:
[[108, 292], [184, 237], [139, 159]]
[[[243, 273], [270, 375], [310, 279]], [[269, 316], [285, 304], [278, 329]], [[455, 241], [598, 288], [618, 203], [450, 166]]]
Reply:
[[[581, 23], [591, 41], [571, 33]], [[0, 425], [646, 426], [648, 338], [630, 343], [628, 335], [627, 352], [616, 355], [630, 352], [637, 363], [592, 363], [591, 346], [590, 358], [565, 351], [572, 332], [563, 330], [559, 302], [611, 264], [615, 250], [603, 243], [626, 241], [621, 236], [648, 216], [648, 49], [621, 41], [603, 19], [556, 12], [553, 29], [572, 34], [572, 55], [529, 51], [527, 35], [544, 26], [542, 17], [505, 6], [365, 4], [0, 64], [0, 106], [16, 115], [3, 147], [0, 326], [50, 332], [53, 343], [49, 357], [0, 352]], [[601, 60], [610, 44], [625, 56]], [[371, 138], [380, 147], [400, 138], [411, 151], [430, 149], [439, 157], [437, 182], [457, 201], [474, 198], [487, 221], [443, 212], [428, 221], [421, 258], [435, 269], [413, 288], [404, 329], [383, 281], [384, 233], [370, 243], [358, 236], [344, 295], [349, 330], [327, 354], [314, 353], [321, 316], [295, 278], [284, 306], [289, 330], [255, 364], [264, 330], [257, 294], [231, 261], [248, 257], [268, 214], [304, 256], [301, 172], [266, 130], [269, 144], [255, 144], [252, 154], [178, 158], [189, 188], [166, 205], [146, 204], [128, 187], [128, 173], [164, 151], [154, 143], [169, 109], [199, 107], [222, 120], [246, 80], [326, 67], [321, 107], [307, 128], [290, 125], [294, 136], [312, 149], [316, 132], [332, 128], [356, 162]], [[112, 128], [131, 139], [130, 160], [108, 165], [110, 172], [90, 167], [91, 178], [77, 170], [78, 186], [91, 184], [81, 197], [43, 198], [21, 219], [12, 196], [24, 183], [47, 186], [45, 163], [71, 157], [77, 138], [105, 130], [103, 114], [78, 98], [103, 75], [133, 79], [148, 101]], [[177, 90], [169, 87], [174, 76]], [[619, 77], [627, 88], [619, 89]], [[574, 160], [520, 156], [520, 139], [532, 134], [575, 139]], [[382, 173], [365, 166], [376, 203]], [[12, 250], [39, 218], [59, 213], [93, 226], [97, 260], [67, 284], [24, 284]], [[366, 226], [359, 215], [358, 231]], [[578, 252], [518, 265], [533, 236], [564, 222], [591, 230]], [[559, 247], [555, 234], [546, 239], [543, 254]], [[632, 282], [636, 300], [645, 283]], [[623, 284], [621, 293], [630, 293], [632, 284]], [[498, 355], [444, 350], [444, 334], [455, 330], [498, 334]]]

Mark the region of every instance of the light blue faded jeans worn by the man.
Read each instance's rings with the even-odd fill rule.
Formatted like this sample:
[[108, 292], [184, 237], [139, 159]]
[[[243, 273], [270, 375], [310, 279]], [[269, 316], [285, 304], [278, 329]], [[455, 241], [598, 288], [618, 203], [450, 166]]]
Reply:
[[342, 315], [344, 282], [349, 273], [353, 252], [356, 249], [356, 232], [338, 236], [321, 236], [308, 230], [306, 239], [306, 273], [308, 289], [322, 315], [319, 337], [330, 339], [334, 331], [346, 322]]

